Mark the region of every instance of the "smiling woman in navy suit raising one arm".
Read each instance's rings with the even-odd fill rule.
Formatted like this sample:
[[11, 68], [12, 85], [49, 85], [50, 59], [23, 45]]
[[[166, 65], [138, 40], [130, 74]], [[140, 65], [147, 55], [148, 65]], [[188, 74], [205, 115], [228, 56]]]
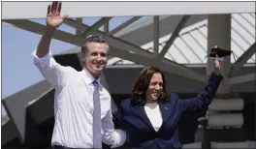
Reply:
[[[217, 57], [213, 66], [215, 71], [220, 69]], [[158, 68], [145, 67], [133, 86], [132, 98], [122, 101], [113, 113], [113, 123], [127, 132], [133, 148], [181, 148], [177, 132], [180, 115], [186, 109], [207, 107], [221, 80], [221, 75], [212, 73], [197, 97], [179, 100], [176, 93], [167, 97], [165, 76]]]

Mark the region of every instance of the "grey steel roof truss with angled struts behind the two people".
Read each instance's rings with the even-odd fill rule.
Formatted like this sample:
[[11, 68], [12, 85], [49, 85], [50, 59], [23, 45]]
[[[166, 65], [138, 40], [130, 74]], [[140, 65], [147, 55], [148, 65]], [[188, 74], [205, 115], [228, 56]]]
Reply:
[[[192, 78], [194, 80], [205, 82], [207, 80], [207, 75], [201, 75], [197, 72], [192, 71], [191, 69], [185, 67], [184, 65], [178, 64], [175, 61], [166, 59], [164, 56], [170, 47], [174, 44], [176, 37], [178, 36], [180, 30], [183, 28], [185, 23], [190, 18], [190, 15], [183, 15], [182, 19], [176, 26], [175, 31], [173, 32], [170, 39], [166, 42], [166, 45], [159, 51], [159, 15], [153, 16], [153, 51], [145, 50], [144, 48], [138, 45], [132, 45], [127, 41], [123, 41], [117, 37], [114, 37], [113, 34], [122, 30], [124, 27], [138, 20], [141, 16], [134, 16], [131, 19], [127, 20], [123, 24], [117, 26], [112, 31], [109, 31], [108, 24], [112, 17], [102, 17], [92, 26], [88, 26], [82, 23], [81, 18], [72, 19], [68, 18], [65, 20], [65, 24], [76, 29], [76, 34], [71, 34], [65, 31], [56, 30], [53, 38], [65, 43], [72, 45], [80, 46], [82, 40], [90, 34], [99, 34], [104, 35], [106, 39], [111, 44], [111, 56], [119, 57], [121, 59], [129, 60], [144, 66], [157, 66], [161, 70], [167, 73], [181, 75], [184, 77]], [[33, 22], [28, 19], [4, 19], [2, 20], [9, 24], [12, 24], [18, 28], [36, 33], [44, 34], [45, 25]], [[105, 31], [102, 32], [98, 30], [100, 27], [105, 26]], [[244, 52], [238, 61], [234, 63], [231, 67], [230, 76], [234, 76], [238, 73], [243, 64], [255, 53], [255, 44], [251, 45], [246, 52]], [[251, 75], [250, 75], [251, 76]], [[240, 79], [241, 77], [230, 78], [231, 80], [236, 80], [233, 84], [240, 83], [243, 81], [249, 81], [251, 79]], [[243, 78], [243, 77], [242, 77]]]

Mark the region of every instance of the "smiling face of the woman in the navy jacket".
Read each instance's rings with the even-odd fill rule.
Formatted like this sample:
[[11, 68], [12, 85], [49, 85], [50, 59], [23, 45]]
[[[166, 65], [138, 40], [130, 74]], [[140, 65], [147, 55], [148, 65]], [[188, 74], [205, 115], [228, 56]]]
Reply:
[[163, 89], [163, 78], [160, 73], [152, 75], [147, 91], [146, 91], [146, 103], [157, 102], [160, 93]]

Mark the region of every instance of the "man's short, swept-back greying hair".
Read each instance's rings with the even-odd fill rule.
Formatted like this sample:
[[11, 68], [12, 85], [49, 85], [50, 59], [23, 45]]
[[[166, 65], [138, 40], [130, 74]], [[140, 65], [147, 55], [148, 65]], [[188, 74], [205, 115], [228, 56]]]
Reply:
[[[109, 45], [109, 42], [103, 36], [101, 36], [101, 35], [90, 35], [84, 40], [83, 44], [81, 45], [81, 52], [82, 53], [86, 53], [88, 51], [88, 44], [89, 43], [103, 43], [103, 44]], [[108, 48], [108, 53], [109, 53], [109, 48]]]

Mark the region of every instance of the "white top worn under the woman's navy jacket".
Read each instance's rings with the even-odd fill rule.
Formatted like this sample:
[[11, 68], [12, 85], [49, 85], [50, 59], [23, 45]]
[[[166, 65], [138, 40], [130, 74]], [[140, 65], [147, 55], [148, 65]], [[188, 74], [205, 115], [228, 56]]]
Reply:
[[161, 110], [159, 108], [159, 104], [150, 103], [144, 104], [144, 111], [151, 122], [155, 132], [158, 132], [163, 123], [163, 118], [161, 114]]

